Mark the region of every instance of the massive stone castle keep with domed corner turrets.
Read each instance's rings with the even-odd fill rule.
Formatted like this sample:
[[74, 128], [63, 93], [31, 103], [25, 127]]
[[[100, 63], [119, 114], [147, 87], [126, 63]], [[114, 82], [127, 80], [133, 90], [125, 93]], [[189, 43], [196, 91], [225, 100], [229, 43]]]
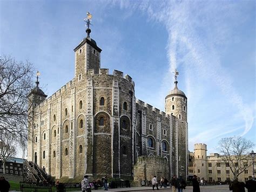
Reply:
[[[169, 176], [187, 176], [187, 97], [177, 87], [165, 112], [137, 100], [129, 75], [100, 68], [100, 49], [87, 37], [75, 51], [75, 77], [55, 94], [29, 95], [28, 160], [59, 179], [79, 175], [132, 176], [140, 156], [165, 158]], [[153, 165], [152, 165], [153, 166]]]

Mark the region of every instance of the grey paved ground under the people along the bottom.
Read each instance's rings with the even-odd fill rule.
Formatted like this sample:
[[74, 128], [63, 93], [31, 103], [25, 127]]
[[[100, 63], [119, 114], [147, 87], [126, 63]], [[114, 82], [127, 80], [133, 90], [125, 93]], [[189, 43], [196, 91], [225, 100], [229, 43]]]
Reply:
[[[189, 192], [189, 191], [192, 192], [192, 190], [193, 190], [192, 186], [188, 186], [183, 191], [184, 192]], [[98, 189], [98, 190], [92, 190], [92, 191], [103, 192], [104, 190]], [[109, 189], [109, 191], [125, 191], [125, 192], [128, 192], [128, 191], [143, 191], [143, 192], [145, 192], [145, 191], [153, 191], [153, 190], [152, 190], [151, 187], [131, 187], [131, 188]], [[154, 190], [154, 191], [157, 191], [157, 190]], [[169, 191], [170, 192], [170, 191], [172, 191], [172, 189], [170, 187], [168, 187], [166, 189], [161, 188], [160, 191], [161, 192], [164, 192], [164, 191], [166, 191], [166, 192]], [[204, 187], [200, 186], [200, 192], [214, 192], [214, 191], [217, 191], [217, 192], [227, 192], [227, 191], [230, 191], [230, 190], [228, 189], [228, 185], [223, 185], [223, 186], [204, 186]], [[247, 190], [245, 190], [245, 191], [247, 191]], [[75, 191], [72, 191], [72, 192], [75, 192]], [[78, 192], [78, 191], [76, 191], [76, 192]]]

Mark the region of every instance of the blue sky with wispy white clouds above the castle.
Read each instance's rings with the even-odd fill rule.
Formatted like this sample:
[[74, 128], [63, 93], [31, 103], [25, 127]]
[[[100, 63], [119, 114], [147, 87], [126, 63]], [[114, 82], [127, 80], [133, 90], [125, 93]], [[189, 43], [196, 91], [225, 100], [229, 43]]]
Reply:
[[[178, 87], [188, 97], [189, 149], [216, 152], [223, 137], [255, 141], [254, 1], [0, 1], [0, 51], [29, 60], [49, 96], [73, 79], [86, 37], [103, 49], [101, 67], [129, 74], [136, 97], [164, 111]], [[256, 151], [256, 148], [254, 148]]]

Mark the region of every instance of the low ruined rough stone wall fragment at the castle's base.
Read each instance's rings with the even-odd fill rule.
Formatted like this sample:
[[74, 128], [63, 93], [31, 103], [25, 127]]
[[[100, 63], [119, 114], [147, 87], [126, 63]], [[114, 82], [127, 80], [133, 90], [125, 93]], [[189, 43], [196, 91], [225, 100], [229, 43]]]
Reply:
[[151, 181], [154, 175], [157, 176], [157, 180], [160, 180], [162, 176], [170, 180], [169, 166], [165, 158], [140, 156], [134, 165], [134, 183], [139, 186], [141, 180]]

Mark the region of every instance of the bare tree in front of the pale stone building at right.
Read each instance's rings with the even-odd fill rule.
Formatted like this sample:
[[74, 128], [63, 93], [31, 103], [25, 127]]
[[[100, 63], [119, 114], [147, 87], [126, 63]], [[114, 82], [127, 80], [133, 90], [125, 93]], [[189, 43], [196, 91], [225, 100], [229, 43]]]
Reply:
[[219, 141], [219, 152], [222, 162], [230, 166], [234, 179], [243, 173], [248, 167], [252, 166], [249, 161], [250, 152], [255, 144], [242, 137], [222, 138]]

